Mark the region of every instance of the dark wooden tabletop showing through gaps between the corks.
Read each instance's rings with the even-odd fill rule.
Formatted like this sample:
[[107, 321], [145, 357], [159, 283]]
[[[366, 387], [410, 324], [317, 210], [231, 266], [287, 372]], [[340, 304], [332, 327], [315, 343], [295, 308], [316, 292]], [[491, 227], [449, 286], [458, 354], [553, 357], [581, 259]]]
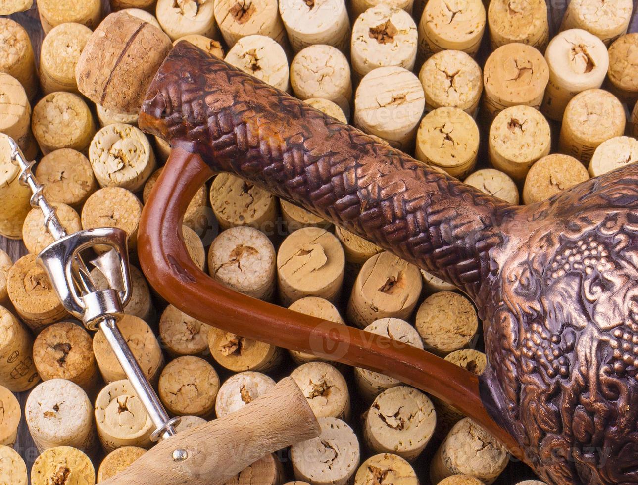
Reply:
[[[82, 0], [78, 0], [78, 1], [82, 1]], [[102, 0], [102, 3], [103, 3], [104, 11], [108, 12], [109, 10], [108, 0]], [[560, 22], [563, 17], [563, 12], [565, 11], [565, 8], [568, 3], [569, 3], [569, 0], [547, 0], [547, 4], [549, 7], [550, 26], [552, 29], [552, 34], [555, 34], [556, 32], [558, 32], [558, 28], [560, 27]], [[40, 57], [40, 46], [42, 43], [42, 39], [44, 38], [44, 33], [41, 29], [40, 19], [38, 19], [38, 12], [37, 12], [36, 6], [34, 5], [34, 7], [28, 12], [11, 15], [10, 18], [22, 24], [22, 26], [24, 26], [27, 32], [29, 33], [29, 36], [31, 37], [31, 42], [33, 43], [33, 50], [36, 56], [36, 65], [37, 65], [38, 59]], [[634, 15], [632, 17], [632, 22], [630, 24], [629, 31], [638, 32], [638, 0], [634, 0]], [[484, 38], [482, 52], [479, 54], [479, 57], [482, 57], [483, 59], [485, 59], [489, 55], [489, 45], [487, 45], [486, 43], [487, 37], [488, 36], [486, 34]], [[35, 102], [37, 101], [38, 101], [38, 96], [36, 96], [36, 98], [34, 99], [33, 104], [35, 104]], [[481, 128], [485, 128], [485, 127], [481, 127]], [[26, 249], [24, 248], [24, 244], [22, 244], [22, 241], [11, 241], [10, 239], [6, 239], [2, 236], [0, 236], [0, 249], [6, 251], [13, 261], [17, 260], [18, 258], [22, 257], [23, 255], [27, 253]], [[29, 395], [29, 391], [20, 392], [19, 394], [17, 394], [18, 400], [20, 401], [20, 405], [22, 406], [23, 410], [24, 410], [24, 403], [26, 402], [28, 395]], [[29, 429], [27, 428], [24, 418], [22, 419], [22, 421], [20, 421], [20, 428], [18, 431], [18, 438], [15, 444], [15, 449], [16, 451], [20, 453], [22, 458], [24, 458], [24, 460], [26, 461], [27, 469], [30, 472], [31, 465], [33, 465], [33, 461], [34, 459], [37, 458], [39, 453], [35, 445], [33, 444], [33, 440], [31, 439], [31, 435], [29, 434]], [[432, 453], [434, 451], [435, 450], [431, 450]], [[427, 456], [427, 454], [429, 454], [429, 449], [426, 449], [426, 451], [424, 452], [424, 457]], [[96, 465], [99, 465], [99, 463], [97, 463]], [[427, 460], [425, 460], [423, 463], [417, 463], [415, 465], [415, 468], [417, 469], [417, 473], [419, 473], [420, 475], [421, 483], [426, 484], [428, 481], [427, 480]], [[533, 478], [535, 478], [535, 476], [533, 472], [531, 472], [530, 468], [523, 465], [522, 463], [517, 463], [515, 461], [512, 461], [512, 463], [510, 463], [505, 469], [505, 472], [503, 472], [503, 474], [501, 474], [498, 480], [494, 483], [496, 485], [510, 485], [510, 484], [513, 485], [519, 481], [526, 480], [526, 479], [533, 479]]]

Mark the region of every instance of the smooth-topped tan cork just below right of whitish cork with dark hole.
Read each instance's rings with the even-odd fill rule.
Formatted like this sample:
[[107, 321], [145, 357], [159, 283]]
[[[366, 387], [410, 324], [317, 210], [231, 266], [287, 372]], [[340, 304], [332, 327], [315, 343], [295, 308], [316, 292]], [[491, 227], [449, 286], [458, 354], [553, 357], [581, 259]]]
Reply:
[[625, 108], [616, 96], [588, 89], [567, 105], [558, 148], [587, 165], [602, 142], [625, 134], [626, 121]]

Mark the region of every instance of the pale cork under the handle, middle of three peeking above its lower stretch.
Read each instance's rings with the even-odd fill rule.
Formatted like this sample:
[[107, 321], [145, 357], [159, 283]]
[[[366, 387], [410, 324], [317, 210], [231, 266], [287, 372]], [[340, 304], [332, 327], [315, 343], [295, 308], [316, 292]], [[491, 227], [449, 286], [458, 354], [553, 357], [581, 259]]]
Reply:
[[[399, 343], [392, 344], [395, 346], [405, 347], [406, 345], [411, 345], [412, 347], [423, 348], [419, 332], [400, 318], [381, 318], [367, 325], [364, 330], [396, 340]], [[360, 367], [355, 367], [355, 382], [360, 396], [367, 399], [367, 401], [373, 401], [383, 391], [401, 384], [401, 381], [393, 377]]]

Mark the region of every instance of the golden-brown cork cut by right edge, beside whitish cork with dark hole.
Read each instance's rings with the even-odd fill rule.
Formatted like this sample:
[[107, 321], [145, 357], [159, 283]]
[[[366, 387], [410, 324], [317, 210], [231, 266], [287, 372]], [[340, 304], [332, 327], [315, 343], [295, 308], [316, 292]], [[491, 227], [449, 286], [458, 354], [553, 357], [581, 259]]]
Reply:
[[638, 100], [638, 33], [623, 35], [609, 47], [607, 78], [612, 93], [629, 107]]

